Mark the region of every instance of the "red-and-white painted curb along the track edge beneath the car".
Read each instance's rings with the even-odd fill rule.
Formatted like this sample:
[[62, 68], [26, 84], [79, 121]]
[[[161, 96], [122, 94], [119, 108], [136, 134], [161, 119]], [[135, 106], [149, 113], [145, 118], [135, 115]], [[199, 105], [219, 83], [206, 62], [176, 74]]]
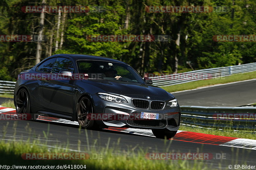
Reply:
[[[0, 106], [0, 116], [2, 114], [17, 116], [15, 109]], [[39, 116], [37, 120], [78, 125], [78, 122], [72, 122], [66, 119], [59, 119], [54, 117]], [[119, 131], [119, 132], [130, 133], [130, 134], [141, 135], [141, 136], [155, 137], [152, 131], [149, 129], [108, 127], [106, 130]], [[204, 133], [188, 132], [188, 131], [182, 131], [182, 130], [178, 130], [175, 137], [173, 137], [171, 140], [193, 142], [193, 143], [199, 143], [199, 144], [213, 144], [213, 145], [221, 145], [221, 146], [239, 147], [239, 148], [256, 150], [256, 140], [237, 138], [237, 137], [209, 135]]]

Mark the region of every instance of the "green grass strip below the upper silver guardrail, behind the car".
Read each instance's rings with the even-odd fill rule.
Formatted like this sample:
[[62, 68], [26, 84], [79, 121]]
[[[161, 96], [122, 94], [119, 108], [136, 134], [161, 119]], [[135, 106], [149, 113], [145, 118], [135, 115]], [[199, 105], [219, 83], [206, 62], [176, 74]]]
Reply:
[[249, 72], [249, 73], [234, 74], [231, 76], [222, 77], [221, 79], [198, 80], [198, 81], [183, 83], [179, 85], [163, 86], [161, 88], [163, 88], [167, 92], [178, 92], [182, 90], [196, 89], [199, 87], [204, 87], [209, 85], [225, 84], [225, 83], [249, 80], [254, 78], [256, 78], [256, 71]]

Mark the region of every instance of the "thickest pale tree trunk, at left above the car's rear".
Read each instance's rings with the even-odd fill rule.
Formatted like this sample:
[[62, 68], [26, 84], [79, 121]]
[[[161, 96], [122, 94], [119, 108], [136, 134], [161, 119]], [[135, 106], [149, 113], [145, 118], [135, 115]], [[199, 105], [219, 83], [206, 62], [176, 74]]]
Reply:
[[[45, 5], [46, 0], [42, 0], [42, 5]], [[44, 11], [40, 14], [40, 21], [39, 21], [39, 31], [38, 31], [38, 35], [39, 35], [39, 39], [37, 41], [37, 46], [36, 46], [36, 62], [40, 63], [40, 59], [41, 59], [41, 50], [42, 50], [42, 43], [41, 43], [41, 37], [43, 35], [43, 29], [44, 29], [44, 17], [45, 17], [45, 13]]]

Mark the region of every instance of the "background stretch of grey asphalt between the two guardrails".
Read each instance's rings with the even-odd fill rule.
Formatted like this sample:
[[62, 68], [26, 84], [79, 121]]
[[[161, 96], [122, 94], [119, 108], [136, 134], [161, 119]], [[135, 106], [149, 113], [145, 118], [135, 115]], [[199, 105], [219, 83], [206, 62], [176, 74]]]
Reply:
[[180, 106], [236, 107], [256, 103], [256, 80], [173, 93]]

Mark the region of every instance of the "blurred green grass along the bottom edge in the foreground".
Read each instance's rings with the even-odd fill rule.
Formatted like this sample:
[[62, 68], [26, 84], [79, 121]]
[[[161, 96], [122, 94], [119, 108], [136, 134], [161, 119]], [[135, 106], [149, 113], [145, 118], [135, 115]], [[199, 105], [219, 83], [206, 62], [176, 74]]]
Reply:
[[[189, 164], [186, 160], [172, 161], [172, 160], [148, 160], [145, 159], [144, 153], [131, 154], [123, 153], [121, 156], [115, 155], [112, 152], [105, 152], [102, 159], [86, 159], [86, 160], [23, 160], [21, 158], [22, 153], [70, 153], [68, 149], [48, 149], [40, 145], [29, 143], [18, 143], [18, 142], [1, 142], [0, 153], [1, 161], [5, 165], [86, 165], [86, 169], [97, 169], [97, 170], [157, 170], [157, 169], [179, 169], [179, 170], [206, 170], [207, 167], [202, 162], [195, 165]], [[211, 168], [212, 169], [212, 168]], [[216, 168], [218, 169], [218, 168]]]

